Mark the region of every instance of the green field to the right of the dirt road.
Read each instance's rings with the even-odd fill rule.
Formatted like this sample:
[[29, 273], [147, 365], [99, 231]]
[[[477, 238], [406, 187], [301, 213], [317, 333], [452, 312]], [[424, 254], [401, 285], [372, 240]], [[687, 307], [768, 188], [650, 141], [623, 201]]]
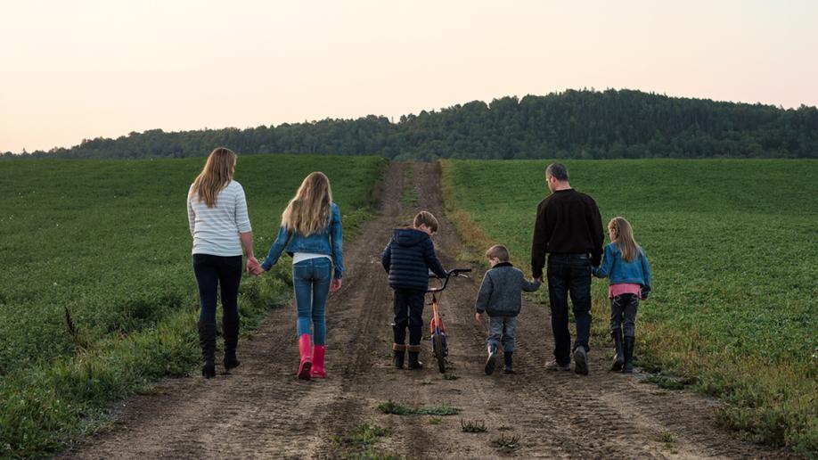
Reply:
[[[637, 365], [722, 398], [720, 420], [749, 439], [818, 455], [818, 161], [566, 164], [603, 224], [631, 221], [653, 267]], [[446, 206], [472, 243], [503, 242], [528, 270], [545, 166], [444, 161]], [[596, 353], [610, 353], [606, 290], [593, 282]]]

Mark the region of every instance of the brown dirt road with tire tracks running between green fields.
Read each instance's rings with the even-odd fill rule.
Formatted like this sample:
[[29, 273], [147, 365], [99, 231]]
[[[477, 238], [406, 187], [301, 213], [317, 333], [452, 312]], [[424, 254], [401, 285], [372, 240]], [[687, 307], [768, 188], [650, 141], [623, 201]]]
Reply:
[[[348, 277], [327, 308], [325, 381], [295, 378], [295, 309], [276, 309], [252, 338], [240, 341], [242, 364], [233, 374], [161, 382], [152, 394], [120, 404], [110, 431], [65, 455], [346, 457], [364, 450], [349, 441], [352, 431], [373, 423], [388, 429], [373, 451], [409, 458], [789, 456], [717, 427], [712, 399], [606, 372], [607, 353], [601, 349], [607, 344], [597, 344], [591, 353], [588, 376], [545, 371], [552, 341], [549, 312], [542, 305], [527, 303], [519, 317], [518, 374], [483, 374], [486, 333], [473, 314], [479, 270], [470, 280], [455, 280], [441, 300], [451, 380], [433, 366], [429, 341], [423, 343], [425, 369], [392, 368], [392, 295], [379, 258], [392, 228], [429, 209], [440, 220], [435, 240], [444, 266], [468, 266], [456, 260], [463, 246], [443, 213], [438, 183], [433, 164], [389, 168], [380, 217], [345, 247]], [[417, 200], [408, 203], [402, 196], [410, 188]], [[407, 406], [456, 407], [460, 414], [381, 414], [378, 405], [390, 399]], [[461, 420], [485, 423], [487, 432], [463, 432]], [[515, 448], [495, 447], [493, 441], [501, 437], [519, 440]]]

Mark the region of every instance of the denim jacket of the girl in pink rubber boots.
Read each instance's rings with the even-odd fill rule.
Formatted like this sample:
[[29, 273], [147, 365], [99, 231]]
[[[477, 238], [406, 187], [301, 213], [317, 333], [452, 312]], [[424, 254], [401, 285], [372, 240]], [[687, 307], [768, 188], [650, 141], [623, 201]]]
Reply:
[[332, 214], [330, 218], [330, 226], [323, 229], [317, 234], [304, 236], [303, 234], [295, 234], [284, 226], [279, 228], [278, 235], [275, 237], [275, 242], [267, 253], [261, 267], [269, 270], [273, 267], [278, 259], [282, 257], [282, 252], [287, 251], [290, 256], [295, 252], [313, 252], [315, 254], [326, 254], [331, 256], [332, 263], [335, 265], [335, 274], [333, 277], [339, 279], [343, 277], [346, 269], [344, 268], [344, 258], [341, 254], [343, 249], [343, 234], [341, 232], [340, 210], [338, 205], [332, 203]]

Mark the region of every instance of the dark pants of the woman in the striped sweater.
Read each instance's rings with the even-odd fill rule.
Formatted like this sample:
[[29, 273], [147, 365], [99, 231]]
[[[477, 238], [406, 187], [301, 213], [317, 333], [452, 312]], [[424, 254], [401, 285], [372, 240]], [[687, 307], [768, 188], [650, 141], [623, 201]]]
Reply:
[[216, 324], [218, 288], [222, 288], [222, 314], [239, 320], [239, 283], [241, 283], [241, 256], [211, 256], [193, 254], [193, 274], [199, 284], [199, 321]]

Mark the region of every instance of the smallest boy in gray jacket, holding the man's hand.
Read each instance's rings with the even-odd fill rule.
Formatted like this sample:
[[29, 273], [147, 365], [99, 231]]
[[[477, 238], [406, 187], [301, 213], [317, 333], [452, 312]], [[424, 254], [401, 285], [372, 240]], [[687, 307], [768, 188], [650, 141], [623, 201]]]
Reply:
[[486, 374], [495, 372], [497, 348], [503, 343], [505, 374], [514, 374], [511, 356], [514, 353], [514, 330], [517, 328], [517, 315], [522, 306], [522, 292], [535, 292], [540, 287], [538, 281], [528, 281], [522, 270], [509, 262], [509, 250], [496, 244], [486, 251], [486, 258], [491, 269], [483, 276], [480, 292], [475, 303], [474, 318], [483, 324], [480, 315], [488, 314], [488, 358]]

